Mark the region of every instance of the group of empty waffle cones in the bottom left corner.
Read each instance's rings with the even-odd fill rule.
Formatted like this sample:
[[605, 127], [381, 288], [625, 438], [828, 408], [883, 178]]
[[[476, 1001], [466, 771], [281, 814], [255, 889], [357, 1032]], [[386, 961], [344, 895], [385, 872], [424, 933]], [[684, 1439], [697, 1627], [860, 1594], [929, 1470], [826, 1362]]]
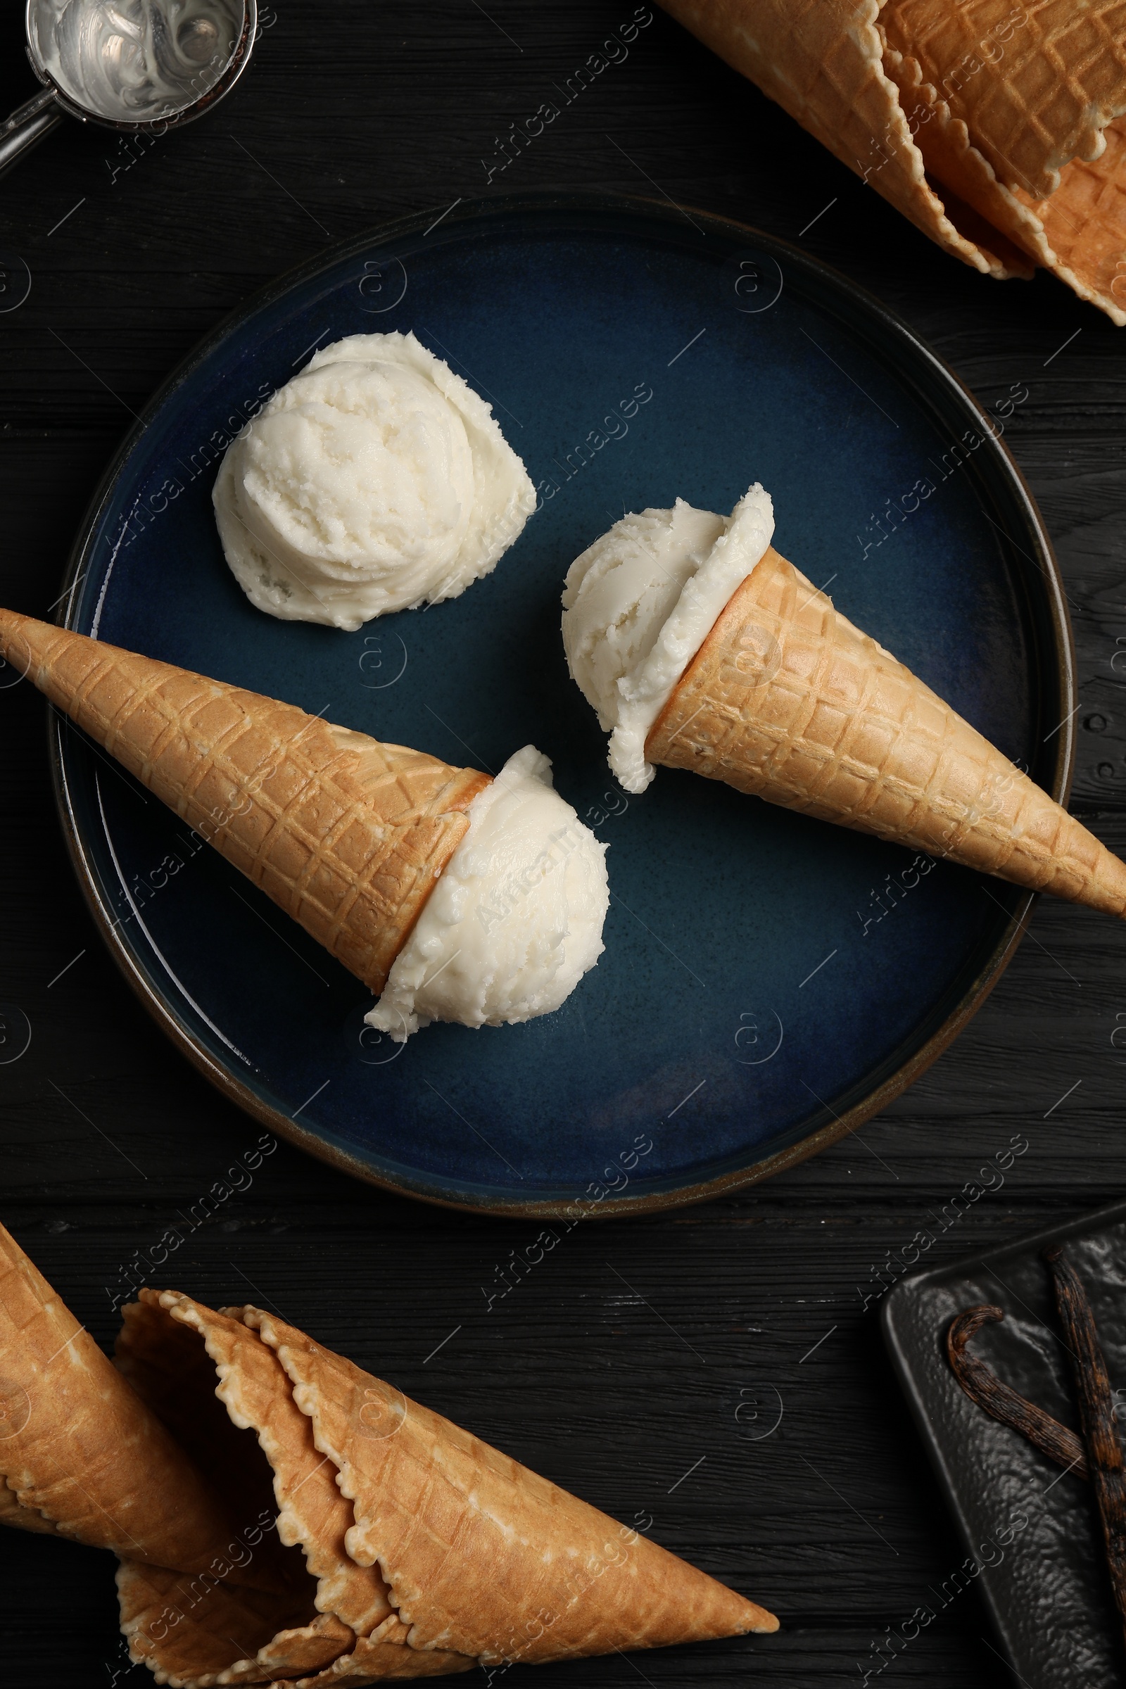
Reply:
[[0, 1437], [0, 1523], [120, 1556], [157, 1682], [328, 1689], [777, 1630], [272, 1314], [142, 1290], [115, 1366], [3, 1228], [0, 1257], [5, 1410], [32, 1407]]

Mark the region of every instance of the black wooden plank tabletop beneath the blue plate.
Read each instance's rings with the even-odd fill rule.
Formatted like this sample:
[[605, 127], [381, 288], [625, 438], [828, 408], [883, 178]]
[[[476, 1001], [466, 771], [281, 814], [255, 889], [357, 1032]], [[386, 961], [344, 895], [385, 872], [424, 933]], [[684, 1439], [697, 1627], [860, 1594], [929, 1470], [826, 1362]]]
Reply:
[[[0, 316], [0, 601], [47, 613], [106, 459], [201, 334], [329, 242], [486, 191], [496, 137], [631, 12], [284, 0], [209, 120], [149, 149], [68, 125], [0, 182], [0, 247], [32, 274]], [[20, 14], [8, 0], [0, 24], [8, 108], [34, 88]], [[905, 316], [979, 399], [1028, 385], [1008, 439], [1074, 610], [1072, 806], [1123, 851], [1126, 334], [1047, 277], [999, 285], [944, 257], [662, 14], [503, 177], [506, 191], [652, 184], [790, 240], [827, 206], [802, 236], [810, 252]], [[27, 1054], [0, 1067], [0, 1218], [108, 1344], [106, 1287], [258, 1128], [172, 1051], [96, 937], [30, 687], [0, 692], [0, 1002], [32, 1025]], [[652, 1513], [657, 1540], [782, 1616], [773, 1638], [554, 1667], [559, 1689], [856, 1684], [886, 1627], [962, 1559], [866, 1294], [1015, 1133], [1028, 1154], [930, 1260], [1123, 1196], [1123, 961], [1121, 926], [1042, 904], [981, 1015], [863, 1142], [723, 1203], [582, 1226], [491, 1312], [479, 1285], [532, 1223], [383, 1196], [287, 1145], [192, 1235], [176, 1284], [277, 1306], [606, 1512]], [[785, 1412], [750, 1441], [738, 1392], [763, 1385]], [[108, 1557], [2, 1534], [5, 1686], [93, 1689], [123, 1667]], [[972, 1588], [883, 1681], [1010, 1681]]]

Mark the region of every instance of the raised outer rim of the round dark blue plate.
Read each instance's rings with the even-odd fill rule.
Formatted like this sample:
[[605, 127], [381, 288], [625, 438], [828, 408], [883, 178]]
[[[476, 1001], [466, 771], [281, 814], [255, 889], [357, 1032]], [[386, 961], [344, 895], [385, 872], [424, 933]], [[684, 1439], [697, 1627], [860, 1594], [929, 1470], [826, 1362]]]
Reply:
[[[1075, 748], [1075, 657], [1067, 615], [1058, 566], [1052, 542], [1045, 530], [1037, 505], [1016, 468], [1008, 448], [994, 432], [994, 426], [974, 395], [962, 385], [954, 372], [920, 339], [895, 312], [881, 304], [874, 296], [858, 287], [837, 270], [812, 258], [809, 253], [788, 242], [778, 240], [750, 225], [733, 218], [716, 216], [696, 208], [670, 209], [660, 201], [652, 201], [633, 194], [606, 193], [532, 193], [518, 196], [495, 196], [459, 208], [434, 208], [414, 213], [388, 223], [376, 225], [363, 235], [341, 245], [331, 247], [316, 258], [294, 270], [285, 272], [250, 301], [241, 304], [225, 318], [189, 356], [162, 383], [152, 400], [143, 407], [135, 426], [130, 429], [122, 446], [115, 453], [91, 505], [79, 527], [69, 566], [62, 586], [62, 606], [57, 620], [64, 627], [73, 627], [78, 616], [78, 588], [86, 573], [86, 557], [95, 539], [103, 512], [111, 502], [116, 483], [125, 473], [130, 456], [165, 402], [184, 385], [194, 372], [208, 360], [214, 350], [230, 336], [238, 334], [265, 307], [284, 299], [290, 291], [306, 282], [316, 280], [324, 270], [333, 269], [351, 257], [371, 255], [378, 248], [388, 248], [405, 238], [424, 236], [436, 226], [436, 218], [442, 223], [442, 240], [449, 240], [457, 230], [464, 236], [485, 233], [490, 225], [510, 225], [517, 220], [539, 220], [539, 233], [564, 236], [576, 228], [587, 230], [599, 223], [608, 233], [630, 233], [635, 238], [648, 226], [660, 240], [685, 243], [692, 236], [685, 231], [685, 218], [692, 228], [702, 235], [714, 233], [731, 248], [751, 248], [766, 253], [780, 265], [790, 267], [802, 275], [807, 296], [851, 334], [858, 336], [866, 351], [895, 368], [900, 375], [907, 368], [915, 378], [917, 397], [934, 417], [940, 417], [955, 429], [974, 429], [981, 434], [981, 446], [974, 453], [972, 473], [976, 480], [989, 485], [994, 498], [1008, 505], [1006, 522], [1006, 556], [1013, 573], [1021, 579], [1030, 611], [1037, 622], [1037, 652], [1042, 659], [1050, 657], [1048, 684], [1045, 676], [1037, 672], [1031, 684], [1033, 706], [1042, 720], [1052, 716], [1053, 723], [1064, 725], [1055, 730], [1052, 750], [1042, 762], [1047, 765], [1033, 770], [1035, 777], [1058, 802], [1067, 801], [1070, 789], [1074, 748]], [[1013, 540], [1010, 527], [1016, 527], [1021, 544]], [[674, 1176], [655, 1181], [636, 1196], [609, 1196], [603, 1201], [577, 1201], [574, 1192], [559, 1196], [522, 1198], [496, 1189], [483, 1189], [478, 1182], [441, 1179], [434, 1174], [412, 1176], [410, 1170], [397, 1167], [393, 1172], [385, 1162], [375, 1164], [353, 1147], [339, 1142], [324, 1127], [309, 1128], [299, 1125], [292, 1116], [275, 1108], [267, 1098], [248, 1086], [231, 1067], [218, 1061], [199, 1040], [191, 1025], [177, 1013], [176, 1000], [165, 990], [159, 976], [143, 966], [142, 958], [125, 941], [120, 924], [103, 895], [100, 873], [86, 848], [83, 821], [74, 804], [71, 780], [68, 777], [68, 733], [71, 741], [81, 735], [71, 728], [66, 718], [51, 713], [49, 750], [56, 801], [68, 839], [68, 848], [78, 873], [79, 885], [91, 909], [95, 922], [110, 948], [125, 978], [177, 1049], [219, 1089], [228, 1100], [236, 1103], [252, 1118], [260, 1120], [280, 1137], [289, 1138], [297, 1147], [307, 1150], [321, 1160], [329, 1162], [343, 1172], [383, 1189], [420, 1198], [447, 1208], [469, 1213], [506, 1214], [506, 1216], [581, 1216], [609, 1218], [626, 1213], [648, 1213], [669, 1209], [689, 1203], [709, 1201], [746, 1184], [771, 1177], [809, 1155], [837, 1142], [864, 1120], [888, 1106], [908, 1084], [913, 1083], [957, 1037], [962, 1027], [972, 1018], [977, 1008], [999, 980], [1011, 961], [1011, 956], [1028, 924], [1033, 893], [1018, 893], [1013, 887], [1003, 887], [1010, 893], [1011, 904], [1008, 919], [998, 926], [996, 939], [972, 973], [962, 980], [961, 997], [950, 1002], [940, 1020], [935, 1015], [923, 1017], [912, 1037], [910, 1052], [900, 1066], [873, 1083], [864, 1094], [854, 1098], [841, 1113], [822, 1108], [814, 1115], [812, 1127], [802, 1123], [782, 1143], [775, 1138], [766, 1154], [746, 1152], [734, 1157], [734, 1164], [723, 1165], [707, 1179]], [[984, 944], [983, 944], [984, 951]]]

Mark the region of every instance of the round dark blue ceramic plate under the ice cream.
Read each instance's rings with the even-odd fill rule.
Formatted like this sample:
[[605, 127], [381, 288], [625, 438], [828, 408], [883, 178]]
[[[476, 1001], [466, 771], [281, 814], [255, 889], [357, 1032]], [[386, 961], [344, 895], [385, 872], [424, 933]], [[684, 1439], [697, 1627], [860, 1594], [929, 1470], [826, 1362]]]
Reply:
[[[277, 622], [223, 561], [218, 458], [314, 348], [388, 329], [491, 400], [540, 508], [452, 603], [351, 635]], [[68, 625], [454, 763], [539, 745], [609, 841], [606, 953], [555, 1015], [380, 1042], [351, 975], [59, 723], [79, 875], [147, 1007], [314, 1154], [493, 1213], [684, 1203], [858, 1125], [977, 1008], [1030, 899], [689, 774], [626, 799], [567, 677], [559, 591], [623, 512], [726, 512], [761, 480], [778, 549], [1060, 797], [1070, 637], [1001, 427], [842, 277], [701, 213], [491, 199], [285, 277], [127, 441]]]

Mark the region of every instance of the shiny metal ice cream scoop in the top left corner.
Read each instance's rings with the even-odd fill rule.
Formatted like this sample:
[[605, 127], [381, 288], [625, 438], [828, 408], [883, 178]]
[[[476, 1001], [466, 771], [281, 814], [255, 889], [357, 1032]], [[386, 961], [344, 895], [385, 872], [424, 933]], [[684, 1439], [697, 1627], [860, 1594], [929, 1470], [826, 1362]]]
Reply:
[[125, 133], [203, 117], [250, 62], [257, 0], [27, 0], [42, 91], [0, 123], [0, 174], [62, 115]]

